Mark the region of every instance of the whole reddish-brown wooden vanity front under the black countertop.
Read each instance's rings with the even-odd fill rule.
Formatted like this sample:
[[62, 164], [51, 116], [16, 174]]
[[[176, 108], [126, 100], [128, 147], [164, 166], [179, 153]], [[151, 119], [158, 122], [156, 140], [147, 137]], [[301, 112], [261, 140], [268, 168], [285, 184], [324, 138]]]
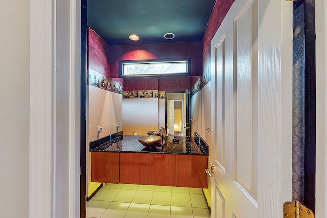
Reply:
[[207, 188], [208, 156], [91, 152], [92, 181]]

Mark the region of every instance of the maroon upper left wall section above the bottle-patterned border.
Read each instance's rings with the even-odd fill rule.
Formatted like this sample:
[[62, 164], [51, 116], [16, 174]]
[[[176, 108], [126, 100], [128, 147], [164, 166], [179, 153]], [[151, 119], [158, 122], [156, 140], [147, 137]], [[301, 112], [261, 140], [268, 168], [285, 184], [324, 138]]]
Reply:
[[91, 28], [88, 28], [88, 68], [110, 77], [109, 45]]

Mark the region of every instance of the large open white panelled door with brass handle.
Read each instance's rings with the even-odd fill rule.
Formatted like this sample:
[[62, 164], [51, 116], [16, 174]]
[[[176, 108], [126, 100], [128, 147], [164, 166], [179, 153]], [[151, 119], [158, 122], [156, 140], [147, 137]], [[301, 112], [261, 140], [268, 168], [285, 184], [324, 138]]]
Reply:
[[292, 2], [235, 0], [211, 41], [211, 217], [291, 200]]

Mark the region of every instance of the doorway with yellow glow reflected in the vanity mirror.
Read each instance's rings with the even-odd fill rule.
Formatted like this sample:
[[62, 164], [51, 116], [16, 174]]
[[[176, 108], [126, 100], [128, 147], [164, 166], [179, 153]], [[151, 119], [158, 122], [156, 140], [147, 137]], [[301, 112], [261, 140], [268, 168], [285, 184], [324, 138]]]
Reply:
[[185, 92], [166, 92], [167, 135], [186, 136], [186, 113]]

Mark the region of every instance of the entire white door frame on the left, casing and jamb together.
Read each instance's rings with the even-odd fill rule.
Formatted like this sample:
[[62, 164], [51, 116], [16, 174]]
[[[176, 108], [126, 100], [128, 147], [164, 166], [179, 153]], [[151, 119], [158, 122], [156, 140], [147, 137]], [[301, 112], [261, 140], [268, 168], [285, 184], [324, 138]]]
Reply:
[[[33, 218], [80, 217], [81, 3], [70, 0], [68, 5], [67, 11], [63, 10], [67, 4], [57, 0], [30, 0], [29, 217]], [[62, 15], [69, 19], [68, 26], [63, 19], [57, 22]], [[67, 51], [63, 44], [68, 43]], [[61, 58], [67, 52], [69, 61]], [[68, 89], [60, 88], [63, 78], [69, 79]], [[62, 96], [68, 96], [65, 102], [60, 102]]]

